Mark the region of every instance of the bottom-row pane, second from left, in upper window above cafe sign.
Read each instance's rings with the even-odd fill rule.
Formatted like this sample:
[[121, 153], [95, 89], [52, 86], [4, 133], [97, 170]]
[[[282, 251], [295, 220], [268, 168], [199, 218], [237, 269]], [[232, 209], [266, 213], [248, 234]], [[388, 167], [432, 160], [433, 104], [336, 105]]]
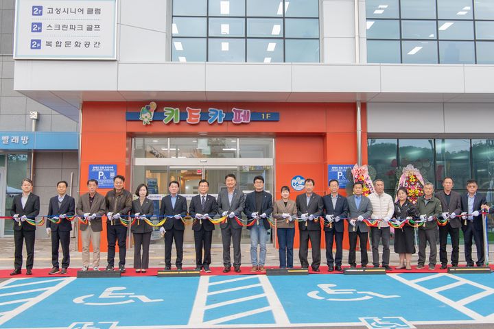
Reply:
[[209, 62], [245, 62], [245, 39], [209, 39]]

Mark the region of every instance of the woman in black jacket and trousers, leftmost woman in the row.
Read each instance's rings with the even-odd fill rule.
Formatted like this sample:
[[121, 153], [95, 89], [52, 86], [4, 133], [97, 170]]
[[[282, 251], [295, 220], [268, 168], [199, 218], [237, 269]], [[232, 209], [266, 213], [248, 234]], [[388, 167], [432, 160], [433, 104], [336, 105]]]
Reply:
[[[136, 217], [132, 225], [132, 234], [134, 234], [134, 269], [137, 273], [145, 273], [149, 267], [149, 245], [151, 241], [152, 227], [144, 221], [150, 219], [154, 213], [153, 202], [148, 199], [148, 186], [140, 184], [137, 186], [135, 194], [139, 199], [132, 202], [132, 215]], [[142, 256], [141, 256], [142, 246]]]

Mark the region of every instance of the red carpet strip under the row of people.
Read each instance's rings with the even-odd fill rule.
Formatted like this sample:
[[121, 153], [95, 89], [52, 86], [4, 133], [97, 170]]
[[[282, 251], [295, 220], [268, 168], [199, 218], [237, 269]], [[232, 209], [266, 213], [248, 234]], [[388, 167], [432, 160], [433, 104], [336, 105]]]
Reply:
[[[423, 268], [423, 269], [416, 269], [415, 266], [412, 266], [412, 270], [411, 271], [407, 271], [405, 269], [395, 269], [395, 267], [392, 267], [393, 268], [393, 271], [388, 271], [386, 273], [447, 273], [447, 269], [439, 269], [440, 265], [436, 266], [436, 269], [434, 271], [430, 271], [429, 269], [427, 269], [427, 267]], [[460, 267], [464, 267], [464, 266], [461, 266]], [[491, 270], [494, 271], [494, 265], [491, 265]], [[278, 267], [266, 267], [268, 269], [277, 269]], [[300, 267], [296, 267], [296, 268], [300, 268]], [[345, 268], [348, 268], [346, 266], [343, 267], [344, 269]], [[357, 268], [360, 268], [360, 267], [357, 267]], [[127, 272], [122, 274], [122, 276], [156, 276], [156, 274], [158, 273], [158, 270], [162, 270], [163, 268], [162, 267], [153, 267], [151, 269], [148, 269], [148, 271], [146, 273], [136, 273], [135, 272], [135, 269], [130, 269], [128, 268], [127, 269]], [[174, 267], [172, 267], [172, 269], [174, 269]], [[191, 270], [193, 269], [193, 267], [184, 267], [184, 270]], [[242, 272], [240, 273], [237, 273], [235, 271], [233, 271], [233, 267], [232, 267], [232, 270], [228, 273], [223, 273], [223, 267], [211, 267], [211, 273], [205, 273], [204, 271], [201, 271], [201, 276], [238, 276], [238, 275], [259, 275], [259, 274], [266, 274], [266, 272], [251, 272], [250, 269], [251, 267], [250, 266], [244, 266], [244, 267], [241, 267], [242, 269]], [[54, 275], [49, 275], [48, 272], [51, 270], [51, 268], [48, 268], [48, 269], [33, 269], [32, 272], [33, 272], [33, 275], [32, 276], [26, 276], [25, 275], [25, 269], [22, 269], [22, 274], [19, 275], [19, 276], [10, 276], [10, 272], [12, 271], [12, 269], [0, 269], [0, 278], [54, 278], [54, 277], [69, 277], [69, 276], [77, 276], [77, 272], [80, 270], [80, 269], [71, 269], [69, 268], [68, 271], [67, 271], [67, 274], [64, 274], [64, 275], [60, 275], [60, 274], [54, 274]], [[320, 272], [314, 272], [312, 271], [310, 268], [309, 268], [309, 273], [310, 274], [342, 274], [342, 272], [338, 272], [338, 271], [332, 271], [332, 272], [328, 272], [327, 271], [327, 266], [321, 266], [320, 267]]]

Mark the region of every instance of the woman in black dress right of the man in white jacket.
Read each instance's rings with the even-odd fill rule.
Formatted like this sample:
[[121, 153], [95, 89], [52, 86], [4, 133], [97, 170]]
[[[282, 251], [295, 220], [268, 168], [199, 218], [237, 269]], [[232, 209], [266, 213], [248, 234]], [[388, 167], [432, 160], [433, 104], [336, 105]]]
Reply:
[[[407, 196], [406, 188], [398, 188], [398, 201], [395, 202], [395, 215], [393, 216], [395, 219], [403, 221], [419, 217], [414, 204], [408, 200]], [[412, 269], [410, 261], [412, 260], [412, 254], [415, 254], [414, 228], [412, 226], [405, 224], [403, 228], [395, 229], [395, 252], [399, 254], [400, 259], [399, 266], [396, 269]]]

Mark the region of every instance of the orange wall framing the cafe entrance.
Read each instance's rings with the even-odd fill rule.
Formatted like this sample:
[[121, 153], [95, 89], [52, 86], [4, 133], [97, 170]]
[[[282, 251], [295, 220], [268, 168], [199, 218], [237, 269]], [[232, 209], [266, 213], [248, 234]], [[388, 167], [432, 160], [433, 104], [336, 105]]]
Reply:
[[[280, 121], [222, 125], [201, 121], [197, 125], [186, 122], [165, 125], [153, 121], [143, 125], [141, 121], [126, 121], [126, 112], [139, 112], [149, 102], [86, 102], [82, 106], [81, 137], [81, 193], [86, 192], [89, 164], [117, 164], [119, 174], [126, 175], [126, 188], [130, 189], [130, 141], [132, 136], [196, 136], [198, 132], [209, 135], [274, 136], [276, 145], [276, 186], [289, 185], [294, 175], [313, 178], [315, 192], [327, 193], [327, 165], [354, 164], [356, 151], [355, 103], [204, 103], [158, 102], [157, 111], [165, 106], [185, 111], [191, 108], [209, 107], [230, 112], [231, 108], [245, 108], [253, 112], [279, 112]], [[363, 162], [367, 162], [366, 109], [362, 106]], [[99, 189], [103, 195], [108, 189]], [[303, 192], [292, 191], [292, 198]], [[342, 191], [344, 193], [344, 191]], [[105, 227], [105, 226], [104, 226]], [[345, 237], [346, 239], [346, 237]], [[322, 239], [324, 241], [324, 239]], [[81, 245], [81, 244], [80, 244]], [[298, 247], [298, 234], [296, 234]], [[106, 230], [102, 233], [102, 251], [106, 251]]]

